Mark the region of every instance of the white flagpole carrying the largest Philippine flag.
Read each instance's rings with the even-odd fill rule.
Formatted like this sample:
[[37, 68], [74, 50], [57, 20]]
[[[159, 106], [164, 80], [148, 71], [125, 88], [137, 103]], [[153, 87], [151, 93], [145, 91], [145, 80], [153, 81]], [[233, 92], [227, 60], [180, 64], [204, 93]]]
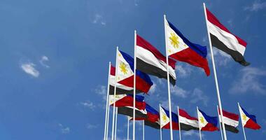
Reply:
[[[166, 15], [164, 15], [164, 22], [166, 22]], [[167, 50], [167, 29], [165, 24], [165, 52], [167, 59], [167, 87], [168, 87], [168, 104], [169, 104], [169, 118], [170, 118], [170, 137], [173, 140], [173, 124], [172, 124], [172, 106], [171, 106], [171, 93], [169, 82], [169, 62], [168, 62], [168, 50]]]

